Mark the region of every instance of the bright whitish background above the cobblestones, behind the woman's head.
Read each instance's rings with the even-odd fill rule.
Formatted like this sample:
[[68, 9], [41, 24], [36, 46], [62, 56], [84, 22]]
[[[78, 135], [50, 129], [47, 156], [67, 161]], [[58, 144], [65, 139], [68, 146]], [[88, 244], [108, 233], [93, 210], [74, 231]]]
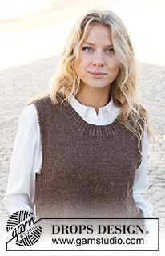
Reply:
[[18, 16], [0, 20], [0, 70], [59, 55], [75, 20], [95, 7], [119, 14], [127, 26], [139, 61], [165, 64], [164, 1], [49, 0], [47, 6], [43, 6], [42, 0], [36, 10], [37, 2], [34, 1], [35, 5], [30, 6], [26, 14], [26, 5], [24, 9], [18, 5], [22, 16], [18, 11]]

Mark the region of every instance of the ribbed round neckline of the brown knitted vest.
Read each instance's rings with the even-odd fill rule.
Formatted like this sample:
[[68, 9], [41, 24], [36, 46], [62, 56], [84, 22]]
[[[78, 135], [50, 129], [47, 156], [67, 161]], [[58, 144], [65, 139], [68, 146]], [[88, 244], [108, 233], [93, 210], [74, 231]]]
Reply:
[[106, 125], [95, 125], [88, 124], [81, 116], [72, 108], [70, 104], [68, 105], [58, 105], [58, 110], [62, 115], [66, 117], [66, 120], [74, 126], [76, 131], [81, 134], [95, 137], [110, 137], [115, 136], [121, 128], [121, 124], [118, 119], [115, 119], [111, 124]]

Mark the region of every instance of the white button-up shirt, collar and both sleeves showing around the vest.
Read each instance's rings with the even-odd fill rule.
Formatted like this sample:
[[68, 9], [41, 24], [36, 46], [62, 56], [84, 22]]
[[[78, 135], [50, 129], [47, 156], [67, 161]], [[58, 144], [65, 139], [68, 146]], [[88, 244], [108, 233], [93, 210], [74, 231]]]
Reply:
[[[89, 124], [111, 124], [119, 113], [111, 100], [99, 108], [98, 115], [94, 107], [82, 105], [72, 95], [70, 104], [78, 115]], [[144, 131], [142, 162], [135, 173], [133, 197], [136, 205], [143, 210], [144, 217], [153, 217], [153, 206], [143, 200], [141, 193], [147, 192], [147, 156], [148, 136]], [[19, 116], [18, 131], [14, 140], [14, 149], [10, 162], [10, 173], [6, 196], [3, 202], [9, 214], [18, 210], [34, 212], [35, 176], [41, 173], [42, 147], [38, 124], [38, 115], [34, 104], [24, 108]]]

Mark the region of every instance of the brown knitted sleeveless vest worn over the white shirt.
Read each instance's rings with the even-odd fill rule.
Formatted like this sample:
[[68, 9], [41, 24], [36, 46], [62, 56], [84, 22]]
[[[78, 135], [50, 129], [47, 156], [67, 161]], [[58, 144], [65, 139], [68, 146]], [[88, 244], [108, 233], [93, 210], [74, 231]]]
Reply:
[[141, 162], [136, 136], [119, 120], [88, 124], [50, 96], [32, 101], [42, 141], [35, 183], [38, 217], [140, 217], [132, 197]]

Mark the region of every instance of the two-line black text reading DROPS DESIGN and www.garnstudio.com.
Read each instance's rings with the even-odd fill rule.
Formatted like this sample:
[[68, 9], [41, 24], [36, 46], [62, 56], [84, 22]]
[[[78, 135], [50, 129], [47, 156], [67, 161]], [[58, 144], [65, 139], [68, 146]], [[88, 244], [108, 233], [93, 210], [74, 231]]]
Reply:
[[[54, 245], [73, 245], [73, 246], [84, 246], [84, 245], [143, 245], [144, 244], [144, 239], [139, 235], [144, 234], [144, 226], [139, 226], [139, 225], [97, 225], [97, 226], [92, 226], [92, 225], [52, 225], [52, 234], [64, 234], [64, 235], [69, 235], [69, 234], [112, 234], [111, 238], [106, 238], [104, 235], [98, 237], [96, 236], [95, 238], [52, 238], [52, 242]], [[118, 235], [119, 234], [131, 234], [135, 235], [136, 237], [134, 238], [121, 238]], [[139, 234], [139, 235], [138, 235]], [[138, 236], [137, 236], [138, 235]]]

